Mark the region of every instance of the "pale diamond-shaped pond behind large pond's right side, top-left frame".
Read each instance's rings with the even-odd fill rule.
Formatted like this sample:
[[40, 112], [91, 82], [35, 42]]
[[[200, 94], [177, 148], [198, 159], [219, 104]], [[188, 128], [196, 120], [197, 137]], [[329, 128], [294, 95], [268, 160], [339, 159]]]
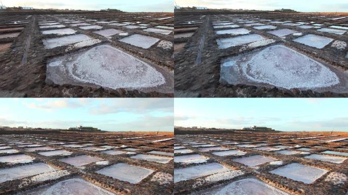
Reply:
[[136, 34], [136, 35], [131, 35], [129, 37], [125, 37], [123, 39], [120, 39], [120, 41], [137, 46], [137, 47], [148, 49], [152, 45], [157, 43], [159, 41], [159, 39]]

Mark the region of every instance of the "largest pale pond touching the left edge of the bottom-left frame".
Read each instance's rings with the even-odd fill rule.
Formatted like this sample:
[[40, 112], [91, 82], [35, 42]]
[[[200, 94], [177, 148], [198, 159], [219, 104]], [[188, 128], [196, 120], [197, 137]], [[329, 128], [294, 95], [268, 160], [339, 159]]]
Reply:
[[56, 169], [44, 163], [0, 169], [0, 183], [51, 171], [56, 171]]

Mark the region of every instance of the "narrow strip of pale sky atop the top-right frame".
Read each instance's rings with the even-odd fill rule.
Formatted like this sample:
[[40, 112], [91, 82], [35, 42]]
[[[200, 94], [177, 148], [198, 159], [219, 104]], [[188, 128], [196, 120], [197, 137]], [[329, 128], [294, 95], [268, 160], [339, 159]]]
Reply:
[[175, 0], [178, 6], [211, 9], [275, 10], [293, 9], [299, 12], [348, 12], [347, 0]]

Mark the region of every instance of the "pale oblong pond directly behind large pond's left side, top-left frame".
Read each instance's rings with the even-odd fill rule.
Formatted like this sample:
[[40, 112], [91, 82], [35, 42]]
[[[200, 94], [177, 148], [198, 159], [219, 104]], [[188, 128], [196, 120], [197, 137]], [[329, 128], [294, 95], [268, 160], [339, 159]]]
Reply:
[[46, 49], [52, 49], [55, 47], [70, 45], [73, 43], [86, 41], [86, 40], [91, 40], [91, 38], [88, 36], [85, 36], [83, 34], [79, 34], [79, 35], [72, 35], [72, 36], [67, 36], [67, 37], [44, 39], [43, 44], [44, 44]]

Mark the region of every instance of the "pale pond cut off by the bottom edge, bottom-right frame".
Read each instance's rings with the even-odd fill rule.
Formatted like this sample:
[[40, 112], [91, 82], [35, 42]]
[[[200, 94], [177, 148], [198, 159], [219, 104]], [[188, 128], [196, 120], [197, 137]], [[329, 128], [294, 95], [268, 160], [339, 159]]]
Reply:
[[255, 178], [241, 179], [232, 183], [218, 185], [206, 190], [191, 193], [191, 195], [289, 195], [271, 185]]

